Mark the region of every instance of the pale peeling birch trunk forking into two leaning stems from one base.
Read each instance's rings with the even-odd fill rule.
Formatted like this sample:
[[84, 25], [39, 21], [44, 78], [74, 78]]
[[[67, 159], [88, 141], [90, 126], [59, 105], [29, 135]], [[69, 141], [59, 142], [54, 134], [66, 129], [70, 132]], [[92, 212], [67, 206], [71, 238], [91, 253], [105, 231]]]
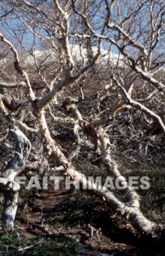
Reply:
[[[81, 117], [80, 113], [77, 113], [76, 109], [74, 111], [74, 115], [76, 116], [76, 118]], [[110, 192], [106, 187], [98, 188], [96, 184], [88, 181], [88, 179], [82, 173], [75, 170], [74, 166], [66, 159], [64, 154], [61, 152], [61, 149], [59, 148], [57, 143], [55, 143], [55, 141], [53, 141], [53, 139], [51, 138], [45, 120], [45, 113], [43, 110], [38, 110], [37, 121], [39, 123], [40, 131], [42, 132], [45, 149], [48, 151], [48, 154], [54, 157], [55, 165], [63, 166], [64, 170], [63, 168], [61, 170], [63, 170], [64, 174], [74, 179], [75, 186], [77, 183], [81, 183], [82, 187], [86, 187], [86, 189], [101, 197], [102, 200], [106, 201], [110, 207], [114, 208], [115, 211], [126, 217], [126, 219], [128, 219], [128, 221], [131, 222], [131, 224], [137, 230], [139, 230], [139, 232], [150, 233], [152, 236], [160, 235], [161, 230], [164, 229], [163, 225], [157, 225], [156, 223], [150, 222], [150, 220], [145, 218], [145, 216], [139, 210], [139, 197], [134, 189], [131, 189], [126, 184], [125, 192], [128, 194], [128, 196], [126, 199], [126, 203], [124, 203], [118, 200], [118, 198], [115, 197], [115, 195], [113, 195], [112, 192]], [[86, 132], [88, 133], [88, 129], [86, 129]], [[100, 133], [99, 135], [97, 135], [96, 131], [92, 131], [92, 128], [89, 135], [92, 135], [93, 137], [96, 135], [96, 139], [97, 136], [99, 136], [99, 140], [101, 141], [102, 156], [105, 165], [107, 165], [108, 170], [111, 171], [112, 176], [120, 176], [118, 166], [116, 165], [115, 161], [110, 158], [110, 153], [107, 152], [107, 146], [109, 141], [105, 138], [103, 134]], [[120, 176], [120, 181], [124, 181], [126, 183], [126, 179], [123, 176]]]

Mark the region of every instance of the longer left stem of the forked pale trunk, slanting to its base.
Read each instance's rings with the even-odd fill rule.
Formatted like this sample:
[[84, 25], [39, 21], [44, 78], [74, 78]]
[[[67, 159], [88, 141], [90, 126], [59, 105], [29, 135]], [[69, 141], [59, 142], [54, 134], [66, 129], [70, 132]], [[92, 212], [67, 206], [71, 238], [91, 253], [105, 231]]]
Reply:
[[[139, 201], [137, 195], [135, 195], [136, 193], [132, 193], [130, 188], [127, 186], [129, 194], [128, 203], [123, 203], [122, 201], [118, 200], [118, 198], [106, 187], [97, 187], [96, 184], [88, 181], [88, 179], [82, 173], [75, 170], [74, 166], [68, 162], [64, 154], [61, 152], [58, 144], [51, 138], [43, 110], [38, 110], [37, 121], [42, 133], [45, 149], [48, 151], [48, 154], [54, 158], [56, 165], [64, 166], [64, 174], [66, 176], [70, 176], [75, 181], [75, 187], [77, 187], [77, 184], [82, 184], [82, 187], [84, 187], [86, 190], [91, 191], [93, 194], [101, 197], [102, 200], [106, 201], [111, 208], [115, 209], [115, 211], [126, 217], [128, 222], [131, 222], [131, 224], [137, 230], [139, 230], [139, 232], [147, 234], [150, 233], [152, 236], [160, 236], [164, 226], [151, 222], [142, 214], [142, 212], [139, 210]], [[93, 132], [93, 136], [94, 135], [96, 135], [97, 139], [96, 131]], [[104, 157], [103, 149], [104, 148], [102, 148]], [[118, 170], [116, 171], [118, 172]], [[121, 177], [121, 179], [123, 180], [123, 177]]]

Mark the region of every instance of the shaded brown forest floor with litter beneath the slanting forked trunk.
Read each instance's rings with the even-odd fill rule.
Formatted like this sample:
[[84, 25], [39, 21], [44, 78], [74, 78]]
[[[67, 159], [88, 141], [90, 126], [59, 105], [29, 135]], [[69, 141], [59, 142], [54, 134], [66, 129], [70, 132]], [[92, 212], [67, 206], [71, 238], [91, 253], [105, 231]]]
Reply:
[[[160, 211], [152, 213], [163, 222]], [[95, 196], [64, 187], [40, 192], [22, 189], [15, 226], [14, 234], [1, 230], [0, 255], [165, 255], [165, 241], [139, 236]]]

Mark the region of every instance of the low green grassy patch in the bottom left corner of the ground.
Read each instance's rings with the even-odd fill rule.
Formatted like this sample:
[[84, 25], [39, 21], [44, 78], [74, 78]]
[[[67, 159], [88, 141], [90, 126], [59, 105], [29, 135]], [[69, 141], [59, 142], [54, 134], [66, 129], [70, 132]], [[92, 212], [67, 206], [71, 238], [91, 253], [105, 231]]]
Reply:
[[43, 236], [40, 238], [14, 238], [7, 234], [0, 237], [0, 253], [2, 255], [78, 255], [82, 244], [68, 236]]

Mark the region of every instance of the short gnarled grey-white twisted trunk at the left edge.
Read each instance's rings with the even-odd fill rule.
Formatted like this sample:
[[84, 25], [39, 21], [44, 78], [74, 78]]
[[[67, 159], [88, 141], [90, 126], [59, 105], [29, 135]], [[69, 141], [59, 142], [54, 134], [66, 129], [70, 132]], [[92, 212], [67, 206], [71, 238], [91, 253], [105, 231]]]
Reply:
[[4, 194], [4, 210], [2, 220], [7, 230], [14, 229], [17, 211], [18, 191], [20, 186], [15, 182], [15, 176], [23, 168], [31, 151], [31, 143], [17, 127], [9, 127], [9, 134], [15, 140], [15, 155], [1, 172], [0, 191]]

